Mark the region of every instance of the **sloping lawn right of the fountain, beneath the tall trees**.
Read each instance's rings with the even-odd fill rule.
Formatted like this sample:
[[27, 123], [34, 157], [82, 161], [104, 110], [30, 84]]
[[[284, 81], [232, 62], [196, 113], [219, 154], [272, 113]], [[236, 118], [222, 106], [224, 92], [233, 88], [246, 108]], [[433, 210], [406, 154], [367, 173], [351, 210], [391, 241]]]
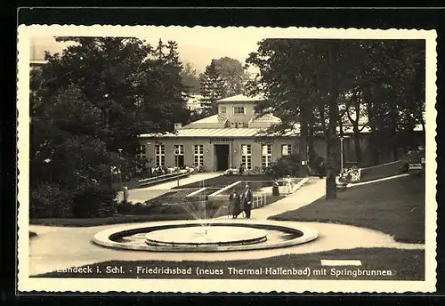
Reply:
[[405, 176], [338, 192], [299, 209], [271, 216], [279, 221], [320, 221], [376, 229], [395, 240], [425, 242], [425, 178]]

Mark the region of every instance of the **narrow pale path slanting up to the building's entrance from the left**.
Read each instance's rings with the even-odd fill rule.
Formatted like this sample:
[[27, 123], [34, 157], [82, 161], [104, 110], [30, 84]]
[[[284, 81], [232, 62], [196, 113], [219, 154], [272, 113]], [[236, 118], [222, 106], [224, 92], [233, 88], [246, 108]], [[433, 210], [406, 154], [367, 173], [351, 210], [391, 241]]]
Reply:
[[[189, 177], [183, 178], [179, 180], [180, 186], [184, 186], [196, 181], [205, 181], [216, 176], [223, 175], [223, 173], [197, 173], [191, 174]], [[166, 192], [170, 191], [170, 189], [177, 187], [178, 181], [167, 181], [154, 186], [140, 188], [140, 189], [130, 189], [130, 196], [128, 197], [128, 201], [133, 203], [145, 202], [150, 200], [153, 197], [159, 197]], [[123, 199], [122, 192], [117, 193], [117, 200], [121, 201]]]

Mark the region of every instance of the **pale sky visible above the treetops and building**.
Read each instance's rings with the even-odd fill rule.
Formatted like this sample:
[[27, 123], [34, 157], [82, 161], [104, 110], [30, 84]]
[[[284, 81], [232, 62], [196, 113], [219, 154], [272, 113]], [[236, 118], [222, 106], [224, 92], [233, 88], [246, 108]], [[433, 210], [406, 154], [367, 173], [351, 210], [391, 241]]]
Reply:
[[[158, 44], [159, 38], [165, 42], [176, 41], [182, 62], [190, 62], [198, 72], [203, 72], [212, 59], [224, 56], [244, 64], [248, 54], [257, 50], [257, 43], [264, 35], [263, 31], [252, 32], [244, 28], [150, 27], [138, 37], [152, 45]], [[35, 54], [33, 60], [41, 60], [44, 51], [61, 52], [69, 44], [58, 43], [53, 36], [34, 36], [31, 45], [34, 45], [31, 47]], [[255, 72], [255, 68], [249, 71]]]

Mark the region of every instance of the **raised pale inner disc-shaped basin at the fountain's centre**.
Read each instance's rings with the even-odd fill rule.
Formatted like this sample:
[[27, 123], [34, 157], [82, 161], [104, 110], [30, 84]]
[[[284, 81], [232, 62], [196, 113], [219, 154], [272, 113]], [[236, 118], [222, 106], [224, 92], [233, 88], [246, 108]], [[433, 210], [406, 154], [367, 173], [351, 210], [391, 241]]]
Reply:
[[145, 239], [154, 246], [234, 246], [261, 243], [267, 231], [240, 226], [190, 226], [154, 230]]

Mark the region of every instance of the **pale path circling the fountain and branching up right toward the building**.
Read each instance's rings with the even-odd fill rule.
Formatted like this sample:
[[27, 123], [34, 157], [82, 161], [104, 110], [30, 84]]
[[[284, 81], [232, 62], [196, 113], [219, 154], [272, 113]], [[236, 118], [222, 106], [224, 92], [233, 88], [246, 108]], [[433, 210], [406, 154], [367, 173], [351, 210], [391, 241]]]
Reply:
[[[294, 210], [325, 194], [325, 180], [311, 178], [301, 189], [293, 195], [285, 197], [271, 205], [255, 209], [252, 220], [264, 220], [271, 215]], [[227, 217], [225, 217], [227, 218]], [[249, 222], [238, 219], [237, 222]], [[287, 221], [283, 221], [286, 225]], [[295, 222], [292, 222], [295, 224]], [[97, 226], [90, 228], [56, 228], [30, 225], [29, 229], [37, 233], [36, 238], [30, 239], [29, 273], [36, 275], [61, 268], [92, 264], [111, 260], [142, 261], [228, 261], [260, 259], [283, 254], [310, 254], [334, 249], [352, 249], [357, 247], [393, 247], [401, 249], [424, 249], [424, 245], [403, 244], [393, 240], [389, 235], [373, 229], [363, 229], [350, 225], [296, 222], [306, 227], [318, 230], [319, 238], [298, 246], [286, 248], [243, 251], [228, 253], [156, 253], [128, 250], [114, 250], [96, 246], [92, 242], [93, 235], [103, 229], [110, 229], [117, 225]], [[147, 223], [147, 224], [150, 224]], [[119, 224], [118, 226], [122, 226]], [[144, 223], [141, 223], [143, 226]]]

